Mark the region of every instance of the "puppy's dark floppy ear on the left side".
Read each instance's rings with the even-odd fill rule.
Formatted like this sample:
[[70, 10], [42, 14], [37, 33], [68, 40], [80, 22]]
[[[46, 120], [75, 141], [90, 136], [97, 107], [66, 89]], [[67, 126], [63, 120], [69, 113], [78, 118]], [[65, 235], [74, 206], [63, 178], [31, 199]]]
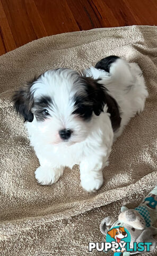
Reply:
[[32, 122], [33, 114], [31, 108], [33, 105], [33, 95], [30, 92], [32, 82], [26, 83], [21, 89], [16, 91], [13, 95], [14, 109], [16, 113], [24, 117], [24, 122]]

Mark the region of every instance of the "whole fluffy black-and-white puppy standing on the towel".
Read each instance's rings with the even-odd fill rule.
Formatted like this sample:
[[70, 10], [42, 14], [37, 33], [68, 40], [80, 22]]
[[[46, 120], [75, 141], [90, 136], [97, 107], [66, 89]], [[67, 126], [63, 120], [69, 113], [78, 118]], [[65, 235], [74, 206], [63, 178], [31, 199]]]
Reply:
[[64, 167], [80, 164], [86, 191], [102, 186], [113, 141], [130, 118], [144, 109], [148, 93], [141, 69], [116, 56], [80, 74], [48, 70], [13, 96], [15, 110], [27, 121], [42, 185], [56, 182]]

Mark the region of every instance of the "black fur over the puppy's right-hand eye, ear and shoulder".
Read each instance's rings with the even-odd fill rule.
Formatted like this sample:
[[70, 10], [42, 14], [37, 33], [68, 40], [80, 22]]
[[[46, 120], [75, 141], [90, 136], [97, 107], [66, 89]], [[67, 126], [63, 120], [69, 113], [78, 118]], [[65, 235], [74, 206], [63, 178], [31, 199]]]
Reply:
[[81, 96], [75, 96], [76, 109], [73, 114], [77, 114], [84, 120], [89, 121], [93, 113], [99, 116], [103, 112], [104, 105], [107, 104], [112, 128], [114, 131], [118, 129], [121, 118], [116, 100], [108, 94], [106, 87], [98, 83], [98, 80], [83, 77], [83, 81], [86, 93]]

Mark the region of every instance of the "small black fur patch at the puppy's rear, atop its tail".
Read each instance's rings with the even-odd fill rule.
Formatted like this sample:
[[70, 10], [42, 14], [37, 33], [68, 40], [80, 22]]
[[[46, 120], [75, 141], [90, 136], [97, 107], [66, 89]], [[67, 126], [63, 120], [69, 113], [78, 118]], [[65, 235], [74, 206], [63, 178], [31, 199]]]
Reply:
[[110, 66], [114, 63], [117, 59], [120, 59], [118, 56], [111, 55], [104, 59], [101, 59], [96, 65], [95, 68], [102, 69], [106, 72], [110, 72]]

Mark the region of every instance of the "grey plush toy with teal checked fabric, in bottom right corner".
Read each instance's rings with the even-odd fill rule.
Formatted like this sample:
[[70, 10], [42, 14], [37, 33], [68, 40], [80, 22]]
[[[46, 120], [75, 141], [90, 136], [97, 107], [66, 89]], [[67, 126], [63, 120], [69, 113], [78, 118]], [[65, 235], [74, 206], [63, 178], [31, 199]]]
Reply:
[[[115, 222], [112, 217], [106, 217], [102, 220], [100, 224], [100, 231], [104, 235], [109, 235], [115, 242], [119, 243], [122, 238], [127, 236], [124, 228], [130, 234], [130, 248], [132, 252], [127, 252], [124, 250], [113, 250], [114, 255], [124, 256], [129, 254], [135, 254], [138, 251], [134, 251], [135, 243], [152, 243], [150, 246], [150, 251], [155, 249], [156, 239], [153, 235], [157, 234], [157, 229], [153, 227], [153, 223], [157, 219], [157, 186], [147, 195], [143, 202], [139, 204], [134, 210], [128, 209], [126, 206], [121, 207], [121, 213], [118, 216], [118, 220]], [[119, 228], [115, 228], [115, 227]], [[124, 243], [124, 242], [123, 242]], [[146, 248], [144, 249], [144, 251]]]

